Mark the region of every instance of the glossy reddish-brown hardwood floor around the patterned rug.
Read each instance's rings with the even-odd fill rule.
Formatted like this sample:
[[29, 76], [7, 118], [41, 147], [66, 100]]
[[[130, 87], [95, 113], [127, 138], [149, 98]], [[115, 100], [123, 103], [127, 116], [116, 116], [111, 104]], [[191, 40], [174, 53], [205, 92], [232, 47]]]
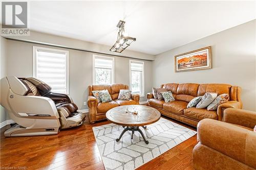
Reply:
[[[104, 169], [92, 127], [105, 124], [109, 122], [105, 120], [90, 125], [87, 116], [80, 127], [60, 131], [57, 135], [29, 137], [4, 137], [5, 129], [9, 128], [6, 126], [1, 129], [0, 167]], [[196, 143], [195, 135], [138, 169], [193, 169], [192, 150]]]

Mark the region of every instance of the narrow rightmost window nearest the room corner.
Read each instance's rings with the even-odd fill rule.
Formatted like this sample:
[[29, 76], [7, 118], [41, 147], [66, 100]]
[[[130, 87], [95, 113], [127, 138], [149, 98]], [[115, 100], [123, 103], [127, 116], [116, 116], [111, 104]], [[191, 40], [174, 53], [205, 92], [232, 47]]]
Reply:
[[130, 88], [133, 94], [144, 96], [144, 62], [130, 60]]

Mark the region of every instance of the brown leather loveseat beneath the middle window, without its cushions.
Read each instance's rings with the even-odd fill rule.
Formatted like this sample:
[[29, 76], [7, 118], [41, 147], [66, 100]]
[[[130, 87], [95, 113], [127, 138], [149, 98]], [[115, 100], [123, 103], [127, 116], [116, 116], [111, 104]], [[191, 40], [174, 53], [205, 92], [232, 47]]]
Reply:
[[[108, 90], [112, 102], [106, 103], [98, 103], [97, 99], [93, 96], [92, 91], [94, 90]], [[132, 94], [132, 99], [129, 101], [121, 101], [117, 100], [119, 91], [121, 89], [129, 89], [127, 85], [124, 84], [112, 84], [112, 85], [92, 85], [88, 86], [88, 101], [87, 105], [89, 107], [89, 119], [90, 123], [93, 124], [97, 120], [102, 120], [106, 118], [106, 112], [114, 107], [122, 106], [122, 105], [139, 105], [140, 95], [139, 94]]]

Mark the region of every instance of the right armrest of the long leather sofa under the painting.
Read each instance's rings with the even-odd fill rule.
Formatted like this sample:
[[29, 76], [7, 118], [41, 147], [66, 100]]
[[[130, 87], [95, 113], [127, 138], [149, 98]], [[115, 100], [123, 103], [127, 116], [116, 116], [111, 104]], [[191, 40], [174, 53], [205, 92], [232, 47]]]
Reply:
[[237, 101], [228, 101], [226, 103], [220, 104], [217, 108], [218, 120], [223, 121], [224, 110], [227, 108], [242, 109], [242, 103]]

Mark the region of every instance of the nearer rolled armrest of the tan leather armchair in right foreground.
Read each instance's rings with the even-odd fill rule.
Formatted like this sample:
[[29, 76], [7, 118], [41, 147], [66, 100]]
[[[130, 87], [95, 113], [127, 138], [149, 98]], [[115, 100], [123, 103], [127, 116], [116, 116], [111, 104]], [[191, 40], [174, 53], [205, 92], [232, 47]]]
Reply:
[[255, 167], [255, 132], [208, 118], [201, 120], [197, 127], [201, 144]]

